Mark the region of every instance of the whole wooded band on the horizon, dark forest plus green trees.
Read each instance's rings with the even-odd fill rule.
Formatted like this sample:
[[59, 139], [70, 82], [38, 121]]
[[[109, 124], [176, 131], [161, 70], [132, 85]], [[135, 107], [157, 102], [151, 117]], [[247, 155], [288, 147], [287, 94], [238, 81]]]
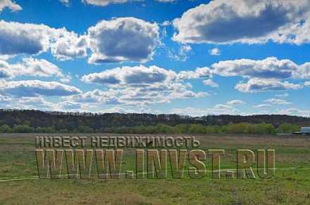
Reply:
[[278, 114], [251, 116], [120, 114], [0, 110], [1, 133], [253, 133], [299, 131], [310, 118]]

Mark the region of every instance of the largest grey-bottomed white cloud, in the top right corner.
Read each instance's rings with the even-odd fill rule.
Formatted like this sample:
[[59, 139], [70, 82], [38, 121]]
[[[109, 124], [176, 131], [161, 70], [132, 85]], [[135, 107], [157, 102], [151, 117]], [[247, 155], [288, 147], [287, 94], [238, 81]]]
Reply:
[[214, 0], [173, 21], [182, 43], [309, 43], [309, 1]]

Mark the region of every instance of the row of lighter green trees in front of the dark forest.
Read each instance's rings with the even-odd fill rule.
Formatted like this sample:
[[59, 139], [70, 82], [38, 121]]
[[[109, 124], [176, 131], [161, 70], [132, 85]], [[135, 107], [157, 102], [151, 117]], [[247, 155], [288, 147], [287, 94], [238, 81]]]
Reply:
[[166, 124], [157, 124], [156, 126], [118, 126], [102, 128], [96, 131], [89, 127], [79, 127], [73, 131], [68, 129], [56, 130], [48, 127], [33, 128], [28, 125], [16, 125], [11, 128], [7, 124], [0, 126], [0, 133], [129, 133], [129, 134], [254, 134], [254, 135], [275, 135], [276, 133], [294, 133], [300, 130], [296, 124], [281, 124], [275, 128], [272, 124], [228, 124], [203, 125], [203, 124], [178, 124], [169, 126]]

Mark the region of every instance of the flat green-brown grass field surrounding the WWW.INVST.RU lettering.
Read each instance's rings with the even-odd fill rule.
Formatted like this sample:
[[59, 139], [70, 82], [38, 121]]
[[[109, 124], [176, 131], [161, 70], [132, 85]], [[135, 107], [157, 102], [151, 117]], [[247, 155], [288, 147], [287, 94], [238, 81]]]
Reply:
[[[197, 136], [199, 149], [225, 150], [221, 168], [236, 168], [238, 149], [275, 149], [269, 180], [39, 180], [35, 135], [0, 135], [0, 204], [310, 204], [310, 138]], [[134, 150], [124, 150], [122, 166], [135, 167]]]

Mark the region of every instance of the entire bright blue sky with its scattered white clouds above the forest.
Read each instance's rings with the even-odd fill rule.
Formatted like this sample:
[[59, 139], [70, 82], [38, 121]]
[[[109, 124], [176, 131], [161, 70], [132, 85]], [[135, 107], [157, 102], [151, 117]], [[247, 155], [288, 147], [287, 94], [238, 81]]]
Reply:
[[308, 0], [0, 0], [0, 107], [310, 117]]

